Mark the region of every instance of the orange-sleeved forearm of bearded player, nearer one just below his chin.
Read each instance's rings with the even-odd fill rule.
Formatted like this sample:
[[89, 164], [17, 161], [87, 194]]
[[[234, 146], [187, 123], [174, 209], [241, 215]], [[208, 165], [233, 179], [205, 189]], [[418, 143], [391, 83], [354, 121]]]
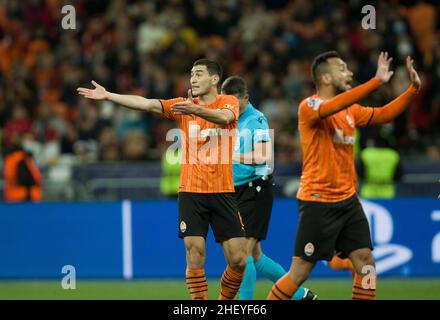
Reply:
[[369, 93], [377, 89], [381, 85], [378, 78], [374, 77], [371, 80], [361, 84], [353, 89], [324, 101], [319, 107], [319, 116], [325, 118], [335, 114], [345, 108], [348, 108], [357, 101], [365, 98]]

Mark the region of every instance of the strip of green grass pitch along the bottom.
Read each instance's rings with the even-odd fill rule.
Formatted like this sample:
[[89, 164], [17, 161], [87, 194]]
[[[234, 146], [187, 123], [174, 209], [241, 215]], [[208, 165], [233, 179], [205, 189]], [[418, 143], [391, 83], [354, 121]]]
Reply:
[[[209, 298], [217, 299], [220, 279], [209, 279]], [[255, 299], [264, 300], [272, 286], [259, 280]], [[351, 299], [349, 279], [309, 280], [305, 284], [321, 300]], [[377, 298], [385, 300], [440, 300], [440, 278], [379, 279]], [[129, 300], [185, 300], [189, 299], [184, 279], [173, 280], [78, 280], [76, 289], [65, 290], [61, 281], [0, 281], [0, 299], [129, 299]]]

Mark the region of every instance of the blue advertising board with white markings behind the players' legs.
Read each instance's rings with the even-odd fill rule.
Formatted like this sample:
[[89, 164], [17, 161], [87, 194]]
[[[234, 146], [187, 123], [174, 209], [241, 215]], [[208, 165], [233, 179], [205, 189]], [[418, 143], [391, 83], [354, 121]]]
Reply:
[[[437, 200], [363, 201], [370, 221], [377, 272], [384, 276], [440, 276]], [[294, 200], [274, 204], [263, 247], [287, 267], [297, 225]], [[175, 201], [0, 205], [0, 278], [61, 279], [71, 265], [78, 278], [179, 278], [185, 250], [177, 237]], [[283, 244], [283, 245], [280, 245]], [[225, 264], [209, 233], [206, 274]], [[318, 263], [318, 277], [341, 277]]]

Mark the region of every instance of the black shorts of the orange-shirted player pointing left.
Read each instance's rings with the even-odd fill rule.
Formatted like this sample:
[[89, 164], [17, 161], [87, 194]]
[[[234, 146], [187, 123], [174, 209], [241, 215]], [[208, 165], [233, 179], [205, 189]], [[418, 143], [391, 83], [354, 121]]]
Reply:
[[244, 225], [234, 193], [179, 192], [179, 237], [206, 239], [211, 225], [215, 241], [244, 237]]

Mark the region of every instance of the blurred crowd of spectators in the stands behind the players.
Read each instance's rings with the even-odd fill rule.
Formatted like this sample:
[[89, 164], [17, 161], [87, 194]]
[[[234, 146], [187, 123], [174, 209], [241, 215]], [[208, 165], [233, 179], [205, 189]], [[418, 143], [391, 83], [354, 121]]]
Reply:
[[[408, 2], [408, 3], [406, 3]], [[76, 29], [64, 30], [64, 5]], [[95, 80], [149, 98], [185, 97], [195, 59], [220, 62], [248, 81], [252, 103], [275, 130], [276, 163], [301, 159], [297, 107], [313, 94], [310, 63], [337, 50], [358, 83], [375, 74], [380, 51], [394, 57], [391, 83], [364, 104], [380, 106], [409, 84], [416, 60], [423, 89], [386, 127], [407, 157], [440, 160], [440, 23], [436, 1], [370, 1], [376, 29], [361, 27], [362, 1], [0, 0], [1, 148], [21, 143], [53, 179], [96, 161], [158, 160], [174, 123], [80, 98]], [[361, 144], [370, 132], [360, 133]]]

